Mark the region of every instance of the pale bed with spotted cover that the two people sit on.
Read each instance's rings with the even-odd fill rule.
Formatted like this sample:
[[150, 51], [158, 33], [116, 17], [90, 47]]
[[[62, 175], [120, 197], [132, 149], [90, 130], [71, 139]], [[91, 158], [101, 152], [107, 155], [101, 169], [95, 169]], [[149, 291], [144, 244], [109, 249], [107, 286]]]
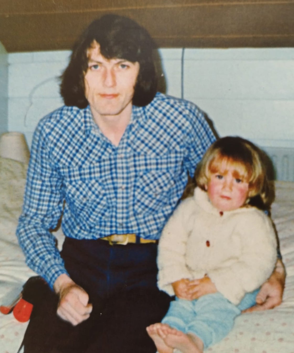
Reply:
[[[0, 303], [35, 273], [24, 262], [15, 236], [21, 212], [26, 164], [0, 157]], [[263, 312], [243, 314], [233, 331], [207, 352], [294, 353], [294, 182], [276, 181], [272, 218], [279, 238], [287, 279], [282, 304]], [[61, 231], [55, 233], [59, 247]], [[28, 323], [0, 313], [0, 353], [16, 353]]]

